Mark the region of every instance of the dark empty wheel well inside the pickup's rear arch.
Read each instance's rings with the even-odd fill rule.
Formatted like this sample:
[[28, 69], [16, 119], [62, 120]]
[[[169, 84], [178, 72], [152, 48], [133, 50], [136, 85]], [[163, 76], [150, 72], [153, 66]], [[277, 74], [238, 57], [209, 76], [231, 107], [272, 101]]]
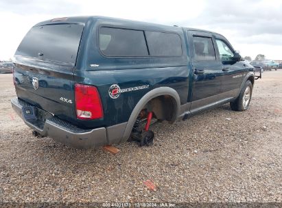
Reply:
[[154, 116], [160, 120], [174, 122], [177, 114], [177, 103], [172, 96], [161, 95], [150, 100], [143, 109], [154, 112]]

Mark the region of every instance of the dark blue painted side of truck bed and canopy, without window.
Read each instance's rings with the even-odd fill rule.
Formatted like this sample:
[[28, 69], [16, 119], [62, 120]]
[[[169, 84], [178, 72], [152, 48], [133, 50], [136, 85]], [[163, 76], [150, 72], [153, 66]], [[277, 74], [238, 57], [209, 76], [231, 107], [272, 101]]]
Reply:
[[[180, 57], [105, 57], [99, 52], [97, 29], [101, 25], [121, 28], [145, 29], [150, 31], [171, 31], [180, 36], [183, 55]], [[180, 96], [180, 103], [187, 103], [190, 68], [182, 28], [145, 25], [142, 23], [93, 21], [84, 29], [81, 51], [78, 54], [75, 80], [96, 86], [102, 100], [104, 118], [84, 121], [89, 127], [110, 126], [128, 121], [132, 109], [147, 92], [167, 86]], [[91, 67], [95, 64], [95, 67]], [[142, 90], [124, 92], [117, 99], [110, 98], [108, 90], [113, 84], [119, 88], [147, 86]]]

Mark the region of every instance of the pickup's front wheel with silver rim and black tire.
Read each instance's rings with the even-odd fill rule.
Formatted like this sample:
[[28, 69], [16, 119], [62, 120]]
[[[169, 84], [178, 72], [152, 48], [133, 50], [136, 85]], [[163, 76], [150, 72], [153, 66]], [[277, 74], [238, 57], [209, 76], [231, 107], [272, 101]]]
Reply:
[[242, 112], [248, 109], [250, 105], [250, 99], [252, 97], [252, 83], [250, 80], [246, 81], [239, 96], [235, 101], [230, 103], [231, 109], [237, 112]]

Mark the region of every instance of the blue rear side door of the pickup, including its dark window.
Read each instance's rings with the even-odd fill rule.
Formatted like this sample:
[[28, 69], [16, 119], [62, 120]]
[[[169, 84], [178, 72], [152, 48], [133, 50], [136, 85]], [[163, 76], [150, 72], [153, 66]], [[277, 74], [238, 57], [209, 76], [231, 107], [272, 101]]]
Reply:
[[189, 31], [193, 66], [191, 112], [220, 101], [222, 64], [215, 55], [214, 44], [210, 33]]

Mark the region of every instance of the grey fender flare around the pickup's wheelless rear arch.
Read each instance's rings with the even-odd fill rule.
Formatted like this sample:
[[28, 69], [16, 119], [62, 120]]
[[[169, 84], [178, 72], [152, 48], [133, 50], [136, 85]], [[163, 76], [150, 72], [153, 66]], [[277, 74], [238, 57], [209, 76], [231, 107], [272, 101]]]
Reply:
[[133, 125], [135, 120], [137, 119], [137, 116], [139, 115], [139, 112], [141, 112], [141, 109], [152, 99], [154, 99], [157, 96], [161, 95], [169, 95], [172, 96], [172, 98], [176, 101], [176, 112], [174, 116], [174, 120], [172, 122], [176, 121], [176, 118], [178, 117], [178, 114], [180, 112], [180, 97], [176, 90], [169, 88], [169, 87], [160, 87], [155, 88], [154, 90], [151, 90], [147, 94], [145, 94], [140, 101], [137, 103], [137, 105], [134, 107], [130, 118], [128, 120], [128, 124], [126, 125], [126, 129], [124, 131], [124, 135], [121, 138], [121, 142], [126, 142], [128, 138], [130, 137], [130, 133], [132, 131]]

